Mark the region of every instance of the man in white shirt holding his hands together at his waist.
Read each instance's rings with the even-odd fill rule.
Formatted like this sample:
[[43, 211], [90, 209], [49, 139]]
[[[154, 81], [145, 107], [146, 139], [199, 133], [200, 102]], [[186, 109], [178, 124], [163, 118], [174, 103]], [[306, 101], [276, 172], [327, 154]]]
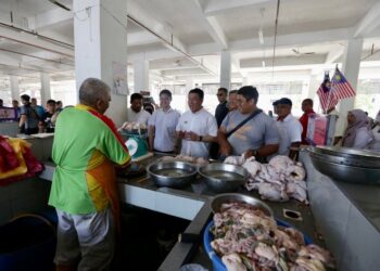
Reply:
[[192, 89], [188, 95], [190, 111], [185, 112], [176, 131], [182, 140], [181, 154], [208, 158], [208, 143], [216, 141], [217, 124], [215, 117], [202, 106], [203, 90]]

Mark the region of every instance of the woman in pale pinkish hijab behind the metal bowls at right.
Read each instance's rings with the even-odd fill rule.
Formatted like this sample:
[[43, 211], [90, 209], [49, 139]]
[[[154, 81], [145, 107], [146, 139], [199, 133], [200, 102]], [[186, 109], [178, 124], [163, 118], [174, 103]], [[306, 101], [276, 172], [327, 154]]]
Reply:
[[373, 140], [366, 113], [362, 109], [350, 111], [347, 121], [349, 126], [343, 136], [342, 146], [366, 149]]

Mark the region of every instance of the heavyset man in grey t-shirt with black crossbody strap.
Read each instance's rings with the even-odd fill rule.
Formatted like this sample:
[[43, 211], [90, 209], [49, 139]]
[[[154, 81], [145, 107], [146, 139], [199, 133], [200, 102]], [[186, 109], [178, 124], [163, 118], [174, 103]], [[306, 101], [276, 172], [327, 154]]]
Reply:
[[258, 111], [256, 88], [245, 86], [238, 91], [238, 111], [228, 113], [218, 131], [220, 154], [267, 157], [278, 150], [279, 137], [274, 119], [261, 112], [228, 138], [228, 133]]

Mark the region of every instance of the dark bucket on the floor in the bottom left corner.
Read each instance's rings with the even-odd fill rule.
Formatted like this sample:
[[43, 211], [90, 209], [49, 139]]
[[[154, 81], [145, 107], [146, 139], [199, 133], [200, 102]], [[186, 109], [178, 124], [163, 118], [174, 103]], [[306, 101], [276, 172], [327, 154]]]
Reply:
[[17, 216], [0, 227], [0, 270], [54, 270], [55, 229], [42, 216]]

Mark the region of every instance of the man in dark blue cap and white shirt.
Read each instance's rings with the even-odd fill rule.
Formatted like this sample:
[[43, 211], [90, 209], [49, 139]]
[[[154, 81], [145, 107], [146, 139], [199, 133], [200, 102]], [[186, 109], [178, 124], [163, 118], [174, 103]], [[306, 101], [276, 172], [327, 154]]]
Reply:
[[280, 137], [278, 154], [288, 155], [290, 158], [296, 158], [297, 151], [291, 147], [299, 147], [301, 144], [302, 125], [293, 117], [292, 101], [288, 98], [281, 98], [276, 101], [278, 118], [276, 126]]

